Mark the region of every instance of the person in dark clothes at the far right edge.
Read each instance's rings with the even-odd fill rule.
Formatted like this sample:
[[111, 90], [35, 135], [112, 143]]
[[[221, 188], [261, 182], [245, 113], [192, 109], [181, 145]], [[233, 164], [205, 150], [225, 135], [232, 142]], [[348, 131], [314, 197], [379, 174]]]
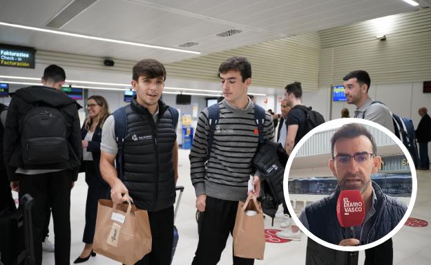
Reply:
[[427, 114], [428, 109], [421, 107], [418, 111], [421, 116], [421, 121], [416, 129], [416, 138], [419, 142], [419, 158], [421, 160], [421, 167], [418, 169], [430, 169], [430, 158], [428, 157], [428, 142], [431, 141], [431, 118]]

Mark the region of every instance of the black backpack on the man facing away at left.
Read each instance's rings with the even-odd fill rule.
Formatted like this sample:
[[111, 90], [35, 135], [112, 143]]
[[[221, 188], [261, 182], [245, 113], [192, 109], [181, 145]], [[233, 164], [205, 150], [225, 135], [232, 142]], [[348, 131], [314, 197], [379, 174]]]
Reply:
[[24, 165], [49, 165], [69, 160], [68, 123], [59, 109], [38, 105], [30, 109], [21, 124]]

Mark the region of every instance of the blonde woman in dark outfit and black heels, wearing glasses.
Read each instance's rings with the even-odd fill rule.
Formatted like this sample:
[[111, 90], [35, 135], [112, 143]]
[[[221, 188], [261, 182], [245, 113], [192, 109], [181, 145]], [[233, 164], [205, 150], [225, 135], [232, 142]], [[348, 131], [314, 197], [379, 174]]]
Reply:
[[81, 255], [74, 263], [86, 262], [90, 256], [94, 257], [93, 237], [95, 233], [97, 202], [99, 199], [108, 199], [111, 188], [100, 176], [100, 142], [102, 141], [102, 127], [109, 116], [108, 103], [103, 96], [90, 96], [87, 100], [88, 117], [81, 129], [82, 137], [82, 169], [86, 173], [88, 184], [86, 202], [86, 224], [84, 228], [85, 243]]

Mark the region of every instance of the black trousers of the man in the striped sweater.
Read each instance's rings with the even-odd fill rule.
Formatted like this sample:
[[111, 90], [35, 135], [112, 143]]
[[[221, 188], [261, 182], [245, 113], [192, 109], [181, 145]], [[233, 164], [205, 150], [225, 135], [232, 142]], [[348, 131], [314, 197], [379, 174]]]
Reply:
[[[220, 261], [229, 233], [233, 233], [238, 202], [207, 197], [193, 265], [211, 265]], [[252, 265], [254, 259], [233, 256], [234, 265]]]

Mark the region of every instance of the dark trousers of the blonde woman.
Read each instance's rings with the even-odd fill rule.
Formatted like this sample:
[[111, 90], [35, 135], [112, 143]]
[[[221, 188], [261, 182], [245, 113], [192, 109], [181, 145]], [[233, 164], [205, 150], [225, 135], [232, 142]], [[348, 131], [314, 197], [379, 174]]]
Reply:
[[99, 202], [99, 199], [109, 199], [111, 197], [111, 188], [102, 180], [101, 176], [97, 176], [93, 161], [84, 161], [84, 167], [86, 169], [88, 192], [86, 202], [86, 225], [82, 241], [86, 244], [93, 244], [97, 217], [97, 202]]

